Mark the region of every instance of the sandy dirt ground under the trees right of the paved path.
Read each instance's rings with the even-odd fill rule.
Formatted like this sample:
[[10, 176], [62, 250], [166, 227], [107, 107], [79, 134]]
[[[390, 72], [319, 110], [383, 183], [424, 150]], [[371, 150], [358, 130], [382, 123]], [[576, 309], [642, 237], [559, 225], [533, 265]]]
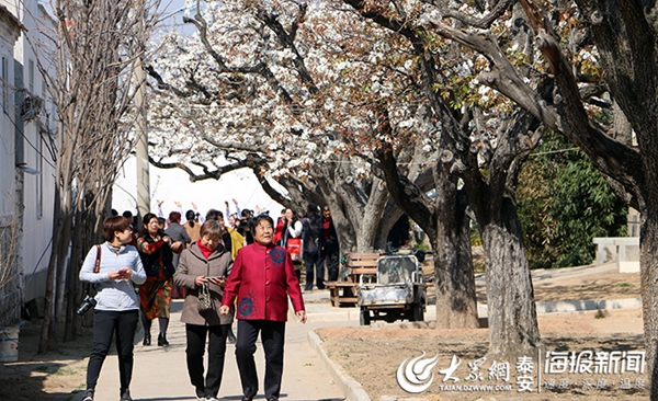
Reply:
[[[569, 278], [552, 284], [536, 283], [534, 288], [537, 301], [638, 298], [639, 275], [606, 274]], [[478, 299], [486, 300], [484, 288], [478, 288]], [[434, 330], [432, 322], [424, 325], [377, 322], [370, 328], [321, 329], [318, 330], [318, 335], [324, 340], [322, 347], [331, 360], [362, 383], [373, 400], [564, 400], [575, 397], [589, 400], [648, 399], [647, 376], [633, 371], [639, 369], [634, 369], [632, 364], [632, 360], [636, 360], [635, 355], [642, 355], [636, 353], [644, 351], [640, 310], [544, 314], [538, 317], [538, 325], [543, 352], [532, 356], [530, 373], [524, 373], [522, 367], [517, 370], [518, 360], [510, 360], [508, 381], [500, 375], [498, 378], [490, 378], [488, 371], [492, 366], [501, 369], [501, 363], [504, 366], [504, 362], [480, 359], [488, 352], [487, 329]], [[587, 370], [581, 370], [581, 374], [570, 373], [571, 359], [567, 359], [566, 365], [559, 364], [564, 360], [564, 355], [576, 360], [578, 357], [587, 360], [588, 351], [592, 355], [603, 353], [602, 357], [611, 359], [621, 358], [616, 365], [616, 374], [614, 370], [610, 374], [597, 374], [593, 367], [593, 359], [597, 359], [594, 356], [590, 358], [592, 374]], [[407, 365], [402, 366], [408, 366], [410, 362], [406, 362], [411, 358], [423, 356], [424, 360], [434, 355], [438, 355], [438, 364], [429, 370], [434, 374], [430, 387], [420, 393], [402, 390], [396, 376], [398, 367], [404, 363]], [[546, 359], [549, 359], [548, 363]], [[454, 366], [453, 362], [460, 363], [460, 366], [446, 377], [440, 370]], [[472, 374], [473, 367], [478, 363], [479, 369]], [[576, 370], [578, 366], [582, 369], [587, 367], [587, 362], [575, 366]], [[614, 364], [612, 366], [614, 368]], [[623, 374], [622, 368], [625, 370]], [[499, 371], [506, 370], [502, 368]], [[402, 382], [415, 378], [413, 375], [405, 375], [404, 369], [401, 375]], [[478, 379], [466, 380], [469, 376], [477, 376]], [[428, 382], [427, 378], [424, 381], [417, 378], [417, 381]], [[531, 389], [532, 392], [519, 391], [522, 388]]]

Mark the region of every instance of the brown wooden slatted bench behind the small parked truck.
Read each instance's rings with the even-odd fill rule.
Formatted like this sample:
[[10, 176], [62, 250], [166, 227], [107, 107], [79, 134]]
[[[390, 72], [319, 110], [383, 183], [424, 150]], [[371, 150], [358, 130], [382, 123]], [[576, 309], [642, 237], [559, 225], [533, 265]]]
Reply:
[[345, 265], [348, 272], [344, 280], [325, 282], [325, 286], [329, 289], [329, 298], [331, 306], [354, 306], [356, 303], [356, 286], [361, 276], [375, 277], [377, 274], [378, 253], [356, 253], [352, 252], [348, 255]]

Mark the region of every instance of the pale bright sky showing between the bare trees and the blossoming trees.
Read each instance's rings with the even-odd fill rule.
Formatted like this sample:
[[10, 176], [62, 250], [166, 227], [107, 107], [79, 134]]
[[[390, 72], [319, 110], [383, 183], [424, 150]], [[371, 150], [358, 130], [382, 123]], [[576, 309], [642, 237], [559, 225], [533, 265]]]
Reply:
[[[183, 30], [183, 12], [175, 12], [185, 7], [184, 0], [163, 0], [163, 30]], [[185, 32], [188, 30], [185, 28]], [[157, 204], [163, 200], [162, 213], [178, 210], [174, 202], [182, 205], [183, 213], [192, 208], [192, 203], [198, 207], [198, 213], [215, 208], [225, 211], [225, 200], [229, 202], [230, 213], [235, 213], [231, 199], [238, 200], [240, 208], [254, 209], [258, 205], [262, 210], [269, 210], [272, 216], [279, 216], [283, 208], [270, 198], [262, 190], [251, 170], [243, 169], [224, 174], [219, 180], [205, 180], [192, 183], [188, 174], [179, 169], [158, 169], [149, 167], [151, 205], [150, 210], [157, 214]], [[137, 211], [137, 167], [134, 157], [124, 164], [120, 177], [114, 185], [112, 207], [118, 213], [124, 210]]]

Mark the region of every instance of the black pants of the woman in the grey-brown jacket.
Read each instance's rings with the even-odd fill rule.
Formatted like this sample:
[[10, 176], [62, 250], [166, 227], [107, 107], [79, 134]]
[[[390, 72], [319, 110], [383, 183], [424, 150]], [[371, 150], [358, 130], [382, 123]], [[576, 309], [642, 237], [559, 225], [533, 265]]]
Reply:
[[[224, 355], [226, 354], [226, 335], [230, 324], [222, 325], [194, 325], [185, 324], [188, 336], [188, 374], [190, 381], [196, 389], [196, 397], [217, 397], [222, 375], [224, 374]], [[203, 378], [203, 354], [208, 334], [208, 373]]]

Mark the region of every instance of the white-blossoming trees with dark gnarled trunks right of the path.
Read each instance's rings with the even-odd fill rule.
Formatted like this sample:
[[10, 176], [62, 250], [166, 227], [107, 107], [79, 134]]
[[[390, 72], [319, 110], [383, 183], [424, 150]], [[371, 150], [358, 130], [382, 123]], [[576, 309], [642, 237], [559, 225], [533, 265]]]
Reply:
[[[401, 208], [435, 250], [438, 302], [449, 306], [439, 325], [476, 324], [473, 219], [487, 261], [489, 354], [509, 357], [541, 346], [519, 173], [544, 131], [559, 133], [643, 215], [656, 382], [653, 5], [576, 4], [208, 3], [186, 21], [195, 36], [163, 37], [168, 56], [149, 68], [166, 133], [151, 138], [154, 162], [186, 165], [195, 179], [250, 167], [265, 188], [266, 176], [287, 188], [271, 193], [279, 202], [325, 199], [343, 249], [376, 247]], [[608, 135], [631, 129], [637, 149]]]

